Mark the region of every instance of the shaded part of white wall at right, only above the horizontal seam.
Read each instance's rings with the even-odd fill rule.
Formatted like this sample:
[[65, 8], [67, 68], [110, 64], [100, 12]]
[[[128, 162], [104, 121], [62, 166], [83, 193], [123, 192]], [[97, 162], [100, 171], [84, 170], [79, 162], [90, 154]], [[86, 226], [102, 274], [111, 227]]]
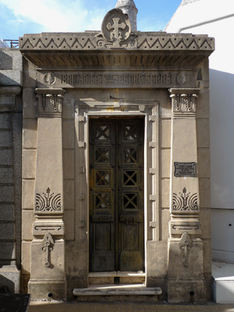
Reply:
[[210, 69], [211, 207], [233, 209], [234, 74]]

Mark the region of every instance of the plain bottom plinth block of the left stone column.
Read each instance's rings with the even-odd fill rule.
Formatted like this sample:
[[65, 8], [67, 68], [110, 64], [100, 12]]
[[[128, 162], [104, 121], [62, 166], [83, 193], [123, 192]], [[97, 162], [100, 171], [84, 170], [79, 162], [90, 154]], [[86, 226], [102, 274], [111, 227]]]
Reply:
[[66, 279], [30, 279], [28, 293], [32, 300], [66, 300]]

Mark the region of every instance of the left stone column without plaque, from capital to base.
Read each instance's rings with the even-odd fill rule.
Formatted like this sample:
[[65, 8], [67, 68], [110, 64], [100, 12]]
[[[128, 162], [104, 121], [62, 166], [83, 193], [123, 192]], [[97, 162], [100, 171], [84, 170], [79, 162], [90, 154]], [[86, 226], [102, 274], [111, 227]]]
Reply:
[[35, 223], [28, 292], [66, 299], [62, 172], [63, 89], [36, 89], [38, 98]]

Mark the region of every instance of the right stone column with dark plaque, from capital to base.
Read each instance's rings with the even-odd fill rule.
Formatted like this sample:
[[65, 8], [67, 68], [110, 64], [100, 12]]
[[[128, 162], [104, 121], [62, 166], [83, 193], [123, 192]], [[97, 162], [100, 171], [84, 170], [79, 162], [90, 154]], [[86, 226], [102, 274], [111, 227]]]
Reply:
[[172, 148], [168, 301], [205, 300], [199, 222], [196, 104], [199, 89], [170, 89]]

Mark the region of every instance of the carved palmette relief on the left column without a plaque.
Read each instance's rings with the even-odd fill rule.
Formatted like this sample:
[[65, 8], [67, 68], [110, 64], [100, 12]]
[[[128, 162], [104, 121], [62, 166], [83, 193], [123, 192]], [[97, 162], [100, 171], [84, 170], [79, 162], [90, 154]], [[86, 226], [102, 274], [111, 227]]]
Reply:
[[61, 194], [51, 193], [51, 189], [48, 187], [46, 193], [36, 193], [35, 198], [35, 213], [39, 214], [51, 214], [51, 212], [62, 212], [62, 196]]

